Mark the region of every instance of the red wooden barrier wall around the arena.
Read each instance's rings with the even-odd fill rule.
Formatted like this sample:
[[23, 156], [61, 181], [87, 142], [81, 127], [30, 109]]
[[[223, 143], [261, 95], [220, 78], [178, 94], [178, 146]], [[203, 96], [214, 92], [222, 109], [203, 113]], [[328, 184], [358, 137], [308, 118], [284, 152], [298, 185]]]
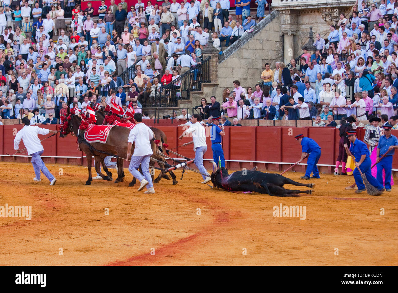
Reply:
[[[148, 121], [149, 122], [149, 121]], [[148, 123], [153, 124], [153, 120]], [[154, 126], [162, 130], [167, 136], [168, 148], [172, 149], [181, 146], [185, 142], [191, 142], [192, 137], [188, 136], [182, 140], [178, 140], [187, 126]], [[57, 129], [58, 125], [40, 126], [51, 130]], [[21, 125], [3, 125], [0, 126], [0, 154], [5, 155], [14, 153], [14, 138], [16, 131], [22, 128]], [[233, 167], [240, 165], [240, 161], [249, 161], [243, 166], [253, 165], [253, 161], [275, 162], [275, 163], [295, 163], [300, 159], [301, 145], [296, 141], [295, 136], [303, 134], [314, 139], [320, 147], [322, 147], [322, 156], [319, 163], [334, 166], [339, 149], [339, 131], [335, 128], [324, 127], [266, 127], [266, 126], [242, 126], [242, 127], [226, 127], [224, 129], [225, 136], [222, 137], [222, 148], [224, 150], [225, 159], [238, 161], [230, 163]], [[211, 141], [209, 138], [210, 128], [206, 127], [206, 143], [207, 152], [205, 159], [212, 159]], [[392, 134], [398, 136], [398, 130], [393, 130]], [[357, 129], [357, 136], [363, 140], [365, 129]], [[42, 138], [41, 138], [42, 139]], [[84, 154], [77, 150], [76, 137], [68, 135], [66, 138], [59, 138], [59, 135], [53, 136], [42, 142], [45, 156], [51, 157], [82, 157]], [[23, 142], [20, 144], [20, 149]], [[186, 157], [195, 157], [193, 145], [179, 147], [174, 149], [178, 153]], [[177, 157], [170, 154], [171, 157]], [[178, 157], [177, 157], [178, 158]], [[393, 169], [398, 169], [398, 156], [394, 155]]]

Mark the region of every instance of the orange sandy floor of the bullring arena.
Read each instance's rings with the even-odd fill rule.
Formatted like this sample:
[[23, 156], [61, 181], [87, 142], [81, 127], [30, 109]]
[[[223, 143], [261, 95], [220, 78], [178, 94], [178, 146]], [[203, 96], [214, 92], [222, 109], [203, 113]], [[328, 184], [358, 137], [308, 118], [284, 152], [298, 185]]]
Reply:
[[[85, 186], [86, 167], [47, 167], [54, 187], [31, 164], [0, 163], [0, 206], [32, 206], [30, 221], [0, 217], [0, 265], [398, 264], [398, 187], [357, 195], [344, 189], [353, 177], [321, 174], [312, 195], [281, 198], [210, 189], [190, 171], [144, 195], [127, 169], [123, 183]], [[274, 217], [279, 204], [306, 206], [306, 219]]]

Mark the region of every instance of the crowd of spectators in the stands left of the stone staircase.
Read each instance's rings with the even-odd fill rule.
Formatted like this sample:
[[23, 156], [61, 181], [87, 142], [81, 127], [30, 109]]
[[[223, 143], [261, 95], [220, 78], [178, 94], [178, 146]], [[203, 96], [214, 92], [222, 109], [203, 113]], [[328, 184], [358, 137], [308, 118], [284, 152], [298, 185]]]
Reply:
[[[59, 118], [73, 102], [84, 111], [86, 99], [123, 107], [137, 101], [141, 108], [141, 102], [156, 105], [166, 96], [168, 103], [180, 83], [162, 88], [181, 74], [191, 71], [196, 87], [200, 72], [191, 67], [201, 64], [203, 47], [221, 49], [223, 41], [228, 46], [255, 25], [248, 0], [237, 1], [236, 20], [229, 0], [166, 0], [160, 7], [142, 0], [131, 6], [111, 0], [108, 7], [101, 1], [98, 19], [90, 2], [84, 10], [71, 0], [10, 4], [0, 8], [0, 21], [2, 14], [7, 18], [7, 26], [0, 24], [2, 118], [22, 118], [34, 109], [41, 120], [50, 112]], [[256, 4], [261, 19], [268, 4]], [[70, 30], [65, 10], [72, 15]], [[126, 83], [118, 75], [132, 65]]]

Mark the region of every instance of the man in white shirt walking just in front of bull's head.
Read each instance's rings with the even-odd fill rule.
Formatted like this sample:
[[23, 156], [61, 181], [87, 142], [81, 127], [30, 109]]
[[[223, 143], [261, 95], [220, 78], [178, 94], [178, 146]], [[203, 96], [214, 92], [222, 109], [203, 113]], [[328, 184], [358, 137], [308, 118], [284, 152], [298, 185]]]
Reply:
[[[134, 117], [135, 118], [135, 117]], [[182, 146], [187, 146], [189, 144], [193, 144], [193, 149], [195, 151], [195, 165], [198, 167], [199, 171], [202, 173], [203, 177], [203, 184], [211, 181], [209, 177], [209, 172], [203, 166], [203, 155], [207, 151], [207, 144], [206, 144], [206, 132], [203, 125], [200, 124], [202, 120], [201, 116], [197, 113], [193, 114], [191, 117], [192, 125], [185, 130], [181, 136], [179, 136], [179, 140], [182, 140], [183, 137], [187, 136], [188, 134], [192, 134], [192, 141], [186, 142]], [[134, 128], [133, 128], [134, 129]], [[205, 176], [205, 174], [207, 176]]]

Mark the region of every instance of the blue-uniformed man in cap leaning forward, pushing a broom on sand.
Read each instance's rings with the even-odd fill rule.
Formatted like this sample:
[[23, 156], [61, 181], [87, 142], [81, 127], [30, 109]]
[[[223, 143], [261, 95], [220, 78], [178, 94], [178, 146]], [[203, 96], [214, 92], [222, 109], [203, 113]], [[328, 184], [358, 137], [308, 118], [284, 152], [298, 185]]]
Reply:
[[[351, 142], [351, 146], [349, 150], [352, 155], [355, 157], [355, 170], [353, 172], [355, 183], [357, 184], [358, 190], [355, 193], [361, 193], [365, 191], [365, 185], [363, 184], [363, 180], [361, 177], [361, 173], [359, 173], [358, 167], [360, 167], [362, 173], [366, 176], [366, 179], [369, 181], [371, 185], [376, 187], [378, 190], [384, 189], [383, 185], [378, 183], [375, 177], [372, 176], [371, 171], [371, 158], [369, 149], [364, 142], [361, 142], [357, 139], [357, 132], [355, 130], [347, 132], [348, 140]], [[379, 142], [380, 144], [380, 142]], [[347, 144], [344, 144], [344, 147], [348, 147]], [[348, 153], [347, 153], [348, 154]]]

